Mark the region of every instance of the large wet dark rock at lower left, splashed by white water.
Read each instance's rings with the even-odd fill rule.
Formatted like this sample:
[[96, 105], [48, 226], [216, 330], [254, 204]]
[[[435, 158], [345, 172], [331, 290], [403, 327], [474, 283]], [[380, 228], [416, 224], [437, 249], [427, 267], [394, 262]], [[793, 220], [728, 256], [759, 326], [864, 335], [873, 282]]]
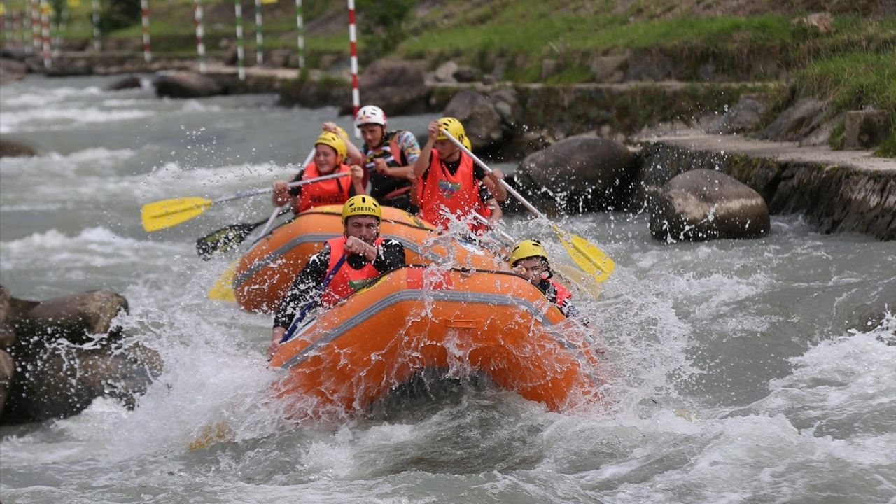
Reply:
[[[133, 407], [161, 370], [159, 355], [125, 338], [115, 318], [127, 300], [90, 291], [43, 302], [17, 300], [0, 286], [0, 423], [62, 418], [97, 397]], [[13, 335], [8, 335], [13, 328]], [[8, 354], [7, 354], [8, 352]], [[3, 382], [4, 354], [15, 370]]]

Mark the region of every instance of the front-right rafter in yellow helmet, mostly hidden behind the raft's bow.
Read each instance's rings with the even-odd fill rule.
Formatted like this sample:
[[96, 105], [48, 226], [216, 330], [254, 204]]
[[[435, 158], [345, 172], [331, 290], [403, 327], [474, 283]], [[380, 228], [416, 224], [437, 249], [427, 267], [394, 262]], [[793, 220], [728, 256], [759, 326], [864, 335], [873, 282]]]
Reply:
[[556, 304], [557, 308], [566, 317], [577, 318], [583, 325], [588, 321], [583, 320], [579, 311], [573, 306], [573, 293], [561, 283], [551, 280], [554, 273], [547, 261], [547, 250], [537, 239], [524, 239], [513, 246], [510, 258], [507, 259], [516, 274], [525, 277], [532, 285], [542, 291], [547, 300]]

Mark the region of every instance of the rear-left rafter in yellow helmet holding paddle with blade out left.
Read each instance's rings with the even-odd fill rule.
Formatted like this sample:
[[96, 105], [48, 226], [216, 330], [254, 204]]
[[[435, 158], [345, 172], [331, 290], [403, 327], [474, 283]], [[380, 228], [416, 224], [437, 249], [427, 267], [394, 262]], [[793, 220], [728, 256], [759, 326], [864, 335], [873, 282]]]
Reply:
[[271, 197], [275, 206], [291, 201], [293, 213], [300, 213], [322, 204], [343, 204], [350, 196], [366, 194], [364, 169], [357, 164], [349, 166], [345, 162], [348, 147], [343, 139], [344, 133], [344, 131], [341, 134], [323, 131], [314, 141], [314, 161], [299, 169], [293, 181], [318, 178], [337, 172], [350, 173], [351, 180], [344, 177], [329, 178], [299, 187], [288, 187], [289, 183], [286, 180], [275, 180]]

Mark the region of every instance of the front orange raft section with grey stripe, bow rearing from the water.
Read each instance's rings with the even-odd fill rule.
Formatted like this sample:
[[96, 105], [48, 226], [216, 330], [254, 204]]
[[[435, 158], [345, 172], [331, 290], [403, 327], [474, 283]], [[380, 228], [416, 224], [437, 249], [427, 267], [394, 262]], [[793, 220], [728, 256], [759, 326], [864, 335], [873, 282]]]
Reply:
[[599, 399], [590, 336], [516, 274], [410, 265], [306, 323], [271, 367], [303, 415], [364, 411], [424, 369], [484, 373], [561, 411]]

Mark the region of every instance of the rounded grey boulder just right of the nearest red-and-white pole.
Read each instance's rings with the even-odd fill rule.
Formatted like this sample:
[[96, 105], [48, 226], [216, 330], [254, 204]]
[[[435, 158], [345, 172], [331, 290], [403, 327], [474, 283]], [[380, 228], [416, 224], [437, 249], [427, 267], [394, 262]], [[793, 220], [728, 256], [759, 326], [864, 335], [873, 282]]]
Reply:
[[426, 111], [429, 91], [417, 63], [376, 60], [358, 77], [358, 87], [365, 103], [377, 105], [390, 116]]

